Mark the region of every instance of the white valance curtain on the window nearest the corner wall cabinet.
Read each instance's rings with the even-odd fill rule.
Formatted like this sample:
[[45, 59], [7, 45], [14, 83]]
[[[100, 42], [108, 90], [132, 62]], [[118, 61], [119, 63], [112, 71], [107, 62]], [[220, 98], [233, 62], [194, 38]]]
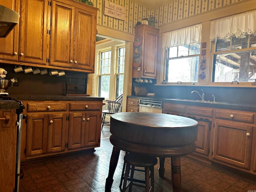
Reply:
[[201, 42], [202, 24], [163, 33], [162, 48]]

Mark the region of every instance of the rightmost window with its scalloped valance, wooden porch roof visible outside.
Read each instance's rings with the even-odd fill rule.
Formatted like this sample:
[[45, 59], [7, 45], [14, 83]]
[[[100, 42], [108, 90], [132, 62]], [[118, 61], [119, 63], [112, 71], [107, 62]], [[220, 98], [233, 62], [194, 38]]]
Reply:
[[255, 81], [255, 17], [256, 10], [211, 21], [212, 82]]

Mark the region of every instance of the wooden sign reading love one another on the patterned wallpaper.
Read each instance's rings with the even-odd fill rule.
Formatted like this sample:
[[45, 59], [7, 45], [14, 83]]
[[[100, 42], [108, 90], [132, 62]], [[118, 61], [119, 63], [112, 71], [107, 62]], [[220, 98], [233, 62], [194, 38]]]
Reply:
[[114, 4], [110, 1], [104, 3], [104, 15], [110, 16], [116, 19], [125, 20], [126, 9], [124, 6]]

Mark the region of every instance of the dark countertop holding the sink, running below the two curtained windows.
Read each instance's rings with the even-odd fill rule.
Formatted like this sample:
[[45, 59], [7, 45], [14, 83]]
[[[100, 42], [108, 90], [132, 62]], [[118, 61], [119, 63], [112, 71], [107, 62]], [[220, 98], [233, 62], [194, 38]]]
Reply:
[[174, 104], [183, 104], [191, 106], [200, 106], [200, 107], [210, 107], [210, 108], [221, 108], [221, 109], [230, 109], [230, 110], [244, 110], [256, 112], [256, 104], [252, 103], [213, 103], [213, 102], [198, 102], [196, 100], [175, 100], [175, 99], [166, 99], [166, 98], [157, 98], [157, 97], [146, 97], [146, 96], [127, 96], [128, 98], [136, 99], [146, 99], [154, 101], [162, 101], [164, 103], [174, 103]]

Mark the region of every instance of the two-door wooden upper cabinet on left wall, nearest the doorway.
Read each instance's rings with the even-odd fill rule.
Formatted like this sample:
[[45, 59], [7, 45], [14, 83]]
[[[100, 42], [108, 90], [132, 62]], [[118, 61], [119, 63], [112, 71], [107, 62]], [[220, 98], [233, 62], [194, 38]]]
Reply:
[[97, 9], [52, 2], [50, 65], [94, 72]]

